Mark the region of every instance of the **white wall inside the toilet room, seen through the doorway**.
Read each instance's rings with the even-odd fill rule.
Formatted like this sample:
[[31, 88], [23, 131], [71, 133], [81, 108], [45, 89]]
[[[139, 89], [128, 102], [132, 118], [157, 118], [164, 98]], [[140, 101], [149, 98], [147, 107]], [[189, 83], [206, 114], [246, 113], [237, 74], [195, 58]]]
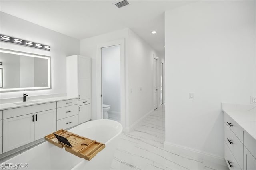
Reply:
[[120, 45], [102, 48], [102, 100], [120, 114]]

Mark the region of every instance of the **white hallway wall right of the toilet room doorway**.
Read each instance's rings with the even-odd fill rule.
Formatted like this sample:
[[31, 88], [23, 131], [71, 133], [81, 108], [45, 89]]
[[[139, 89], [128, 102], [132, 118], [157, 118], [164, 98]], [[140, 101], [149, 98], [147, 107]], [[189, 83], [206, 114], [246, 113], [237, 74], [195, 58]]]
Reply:
[[[153, 110], [153, 55], [156, 51], [129, 29], [129, 128]], [[160, 57], [160, 56], [159, 56]], [[160, 85], [160, 59], [158, 59]], [[160, 93], [158, 93], [160, 103]]]

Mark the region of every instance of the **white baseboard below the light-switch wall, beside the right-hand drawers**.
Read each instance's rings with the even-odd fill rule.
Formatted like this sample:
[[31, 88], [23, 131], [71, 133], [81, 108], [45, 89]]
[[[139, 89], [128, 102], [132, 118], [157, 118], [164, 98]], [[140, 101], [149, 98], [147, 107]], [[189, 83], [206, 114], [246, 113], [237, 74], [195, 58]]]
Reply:
[[222, 166], [227, 166], [225, 159], [215, 154], [211, 154], [211, 153], [197, 150], [194, 148], [189, 148], [186, 146], [181, 146], [178, 144], [173, 144], [167, 141], [164, 141], [164, 148], [174, 153], [190, 156], [204, 163], [210, 162], [210, 163], [219, 164]]

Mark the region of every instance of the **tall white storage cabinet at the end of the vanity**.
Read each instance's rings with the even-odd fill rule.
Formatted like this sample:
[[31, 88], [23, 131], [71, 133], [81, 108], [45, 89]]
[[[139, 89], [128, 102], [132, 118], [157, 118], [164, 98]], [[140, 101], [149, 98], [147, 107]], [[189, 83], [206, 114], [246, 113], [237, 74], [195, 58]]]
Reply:
[[81, 55], [67, 57], [67, 94], [78, 97], [78, 123], [92, 119], [91, 58]]

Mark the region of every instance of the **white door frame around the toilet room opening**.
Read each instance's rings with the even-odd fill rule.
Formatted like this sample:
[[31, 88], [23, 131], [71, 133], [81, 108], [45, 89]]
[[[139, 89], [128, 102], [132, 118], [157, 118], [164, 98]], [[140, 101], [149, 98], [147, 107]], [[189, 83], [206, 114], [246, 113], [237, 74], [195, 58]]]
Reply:
[[125, 85], [125, 79], [126, 79], [126, 71], [125, 71], [125, 51], [124, 51], [124, 39], [114, 40], [110, 42], [104, 42], [97, 45], [97, 64], [96, 64], [96, 70], [97, 70], [97, 79], [96, 79], [96, 113], [97, 113], [97, 119], [103, 119], [103, 110], [102, 110], [102, 48], [104, 47], [111, 47], [115, 45], [120, 45], [120, 119], [121, 124], [123, 126], [123, 130], [125, 129], [125, 118], [126, 118], [126, 85]]

